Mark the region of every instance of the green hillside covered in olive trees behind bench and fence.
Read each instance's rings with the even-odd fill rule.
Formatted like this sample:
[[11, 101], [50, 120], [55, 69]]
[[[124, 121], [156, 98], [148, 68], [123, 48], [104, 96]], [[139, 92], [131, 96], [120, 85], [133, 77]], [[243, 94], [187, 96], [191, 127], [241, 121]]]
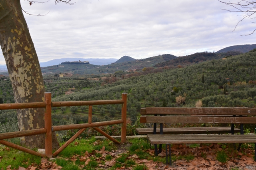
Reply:
[[[158, 57], [153, 57], [153, 59]], [[256, 52], [250, 52], [196, 63], [184, 68], [163, 69], [158, 73], [134, 74], [131, 78], [94, 75], [99, 78], [74, 81], [73, 77], [56, 77], [47, 80], [45, 86], [47, 91], [54, 93], [53, 102], [114, 100], [120, 99], [121, 94], [126, 92], [128, 93], [127, 115], [134, 121], [140, 107], [161, 107], [164, 101], [168, 107], [195, 107], [199, 100], [202, 101], [202, 107], [255, 107], [255, 68]], [[108, 81], [105, 81], [106, 79]], [[112, 81], [114, 79], [116, 81]], [[4, 98], [6, 94], [11, 94], [11, 87], [8, 86], [8, 81], [1, 80], [1, 83], [0, 97]], [[73, 86], [76, 88], [74, 93], [63, 94], [67, 88], [73, 88]], [[184, 102], [182, 104], [176, 102], [177, 97], [182, 98]], [[55, 109], [57, 109], [57, 113], [60, 113], [60, 108]], [[64, 114], [69, 114], [68, 110], [67, 108]], [[87, 110], [88, 107], [86, 111], [79, 110], [78, 113], [72, 115], [73, 119], [76, 119], [76, 122], [81, 122], [82, 117], [80, 116], [86, 115]], [[117, 118], [120, 117], [121, 110], [121, 105], [94, 106], [94, 119], [99, 121], [100, 119], [109, 119], [109, 117]], [[85, 121], [83, 120], [83, 122]], [[54, 122], [55, 125], [60, 123], [60, 119], [56, 119]], [[251, 128], [248, 126], [250, 125], [246, 125], [245, 128]]]

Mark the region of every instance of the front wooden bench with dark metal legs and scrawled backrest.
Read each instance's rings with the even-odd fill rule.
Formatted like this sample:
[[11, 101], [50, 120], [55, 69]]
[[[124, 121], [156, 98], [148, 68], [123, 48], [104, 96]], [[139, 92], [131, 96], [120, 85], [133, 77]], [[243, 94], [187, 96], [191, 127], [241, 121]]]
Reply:
[[[141, 108], [140, 111], [140, 123], [154, 123], [154, 134], [148, 134], [147, 138], [151, 144], [155, 145], [155, 154], [158, 154], [157, 144], [159, 146], [159, 152], [162, 150], [162, 144], [184, 144], [184, 143], [256, 143], [256, 135], [243, 135], [243, 124], [256, 123], [255, 116], [256, 109], [244, 108], [244, 107], [212, 107], [212, 108], [186, 108], [186, 107], [146, 107]], [[155, 116], [152, 116], [155, 115]], [[156, 116], [160, 115], [160, 116]], [[167, 116], [166, 116], [167, 115]], [[160, 134], [156, 134], [156, 123], [160, 123]], [[208, 130], [207, 135], [204, 134], [190, 134], [190, 133], [200, 133], [207, 128], [202, 128], [203, 130], [197, 130], [192, 132], [189, 130], [188, 135], [184, 130], [183, 134], [173, 135], [178, 133], [176, 131], [173, 134], [164, 134], [162, 123], [218, 123], [218, 124], [231, 124], [230, 130], [227, 133], [231, 135], [209, 135]], [[234, 124], [240, 124], [240, 135], [234, 135], [235, 128]], [[209, 129], [211, 127], [208, 127]], [[224, 128], [224, 127], [221, 127]], [[226, 127], [225, 127], [226, 128]], [[179, 128], [180, 129], [180, 128]], [[189, 128], [186, 128], [189, 129]], [[200, 128], [199, 128], [200, 129]], [[215, 129], [216, 130], [216, 129]], [[215, 131], [214, 130], [214, 131]], [[238, 129], [236, 129], [237, 132]], [[221, 130], [220, 130], [221, 131]], [[219, 131], [219, 132], [220, 132]], [[217, 132], [217, 133], [219, 133]], [[226, 133], [225, 131], [223, 131]], [[167, 145], [166, 145], [167, 150]], [[167, 164], [167, 151], [166, 151], [166, 164]], [[256, 159], [256, 156], [255, 156]], [[171, 155], [170, 155], [171, 164]]]

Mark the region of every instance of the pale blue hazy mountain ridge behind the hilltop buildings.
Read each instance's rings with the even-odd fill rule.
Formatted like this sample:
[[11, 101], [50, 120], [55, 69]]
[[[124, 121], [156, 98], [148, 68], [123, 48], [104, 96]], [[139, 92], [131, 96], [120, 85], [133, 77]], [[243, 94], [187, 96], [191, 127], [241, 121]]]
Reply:
[[64, 59], [54, 59], [47, 62], [39, 62], [41, 67], [53, 66], [58, 65], [60, 63], [66, 61], [89, 61], [90, 64], [94, 65], [108, 65], [111, 63], [116, 62], [118, 59], [83, 59], [83, 58], [64, 58]]

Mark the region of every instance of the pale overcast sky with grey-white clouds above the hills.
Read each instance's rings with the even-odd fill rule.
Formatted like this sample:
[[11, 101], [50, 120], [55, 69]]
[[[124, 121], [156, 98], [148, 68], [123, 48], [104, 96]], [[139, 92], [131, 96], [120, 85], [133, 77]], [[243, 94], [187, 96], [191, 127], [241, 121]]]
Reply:
[[[72, 0], [74, 5], [21, 0], [40, 62], [60, 58], [144, 59], [255, 44], [256, 24], [218, 0]], [[5, 64], [0, 55], [0, 64]]]

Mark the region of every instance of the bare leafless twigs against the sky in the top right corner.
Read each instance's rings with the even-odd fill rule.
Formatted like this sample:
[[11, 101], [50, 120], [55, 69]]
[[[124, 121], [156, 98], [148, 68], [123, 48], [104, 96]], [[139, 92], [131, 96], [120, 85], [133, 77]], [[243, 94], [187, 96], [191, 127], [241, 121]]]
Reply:
[[[243, 18], [242, 20], [240, 20], [233, 31], [236, 30], [236, 27], [238, 26], [238, 24], [240, 22], [242, 22], [244, 19], [249, 18], [249, 19], [255, 19], [256, 18], [256, 1], [255, 0], [240, 0], [237, 3], [231, 3], [229, 2], [224, 2], [222, 0], [218, 0], [219, 2], [222, 2], [228, 6], [232, 6], [233, 8], [235, 8], [235, 10], [227, 10], [227, 9], [222, 9], [222, 10], [226, 10], [228, 12], [240, 12], [240, 13], [244, 13], [244, 15], [241, 15]], [[256, 23], [256, 21], [252, 21], [251, 23]], [[254, 32], [256, 31], [256, 29], [254, 31], [252, 31], [252, 33], [250, 34], [246, 34], [246, 35], [252, 35]], [[240, 35], [242, 36], [242, 35]]]

